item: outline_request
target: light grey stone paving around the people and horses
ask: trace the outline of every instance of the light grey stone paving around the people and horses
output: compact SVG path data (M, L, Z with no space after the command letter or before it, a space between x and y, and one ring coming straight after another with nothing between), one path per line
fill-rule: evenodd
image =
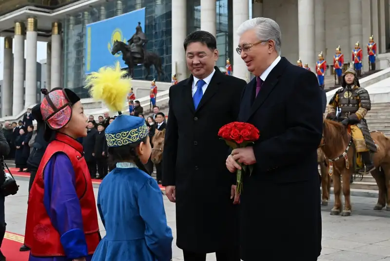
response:
M24 234L27 211L26 178L17 178L20 191L5 201L7 231ZM95 194L98 192L98 185ZM318 261L390 261L390 211L374 211L374 198L351 197L351 217L330 216L330 206L323 207L322 255ZM168 224L176 236L175 205L164 196ZM100 221L99 221L100 222ZM101 222L102 236L105 231ZM180 249L173 245L174 261L183 260ZM288 259L288 255L286 256ZM207 261L215 261L209 254Z

